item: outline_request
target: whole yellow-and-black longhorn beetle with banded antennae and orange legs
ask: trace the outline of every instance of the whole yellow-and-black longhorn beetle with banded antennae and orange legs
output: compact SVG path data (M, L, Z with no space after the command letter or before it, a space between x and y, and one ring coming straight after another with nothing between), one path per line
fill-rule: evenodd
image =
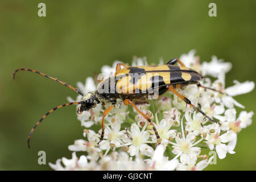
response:
M180 66L174 65L177 62L180 64ZM211 122L217 122L213 121L213 119L208 117L208 115L206 115L201 109L193 105L191 101L188 100L188 98L182 96L175 90L177 88L183 88L184 86L187 86L189 84L197 84L197 86L201 86L205 89L212 89L200 85L199 81L201 81L204 77L193 69L185 67L185 65L179 59L172 59L168 61L166 65L146 65L137 67L131 67L129 65L119 63L115 68L115 76L109 77L102 81L98 85L95 92L89 92L85 95L79 89L73 88L66 82L60 81L57 78L47 76L44 73L40 73L33 69L16 69L16 71L13 73L13 78L15 76L15 73L18 71L31 71L34 73L38 73L39 75L60 82L60 84L68 86L72 90L75 90L77 93L82 95L81 101L69 102L67 104L54 107L52 110L44 114L43 117L39 119L39 121L30 131L27 141L28 147L30 147L30 138L35 128L49 113L56 109L59 109L60 107L75 104L80 105L77 109L77 113L79 114L81 114L83 111L88 111L89 109L96 107L96 105L100 103L103 105L110 104L110 106L104 111L102 117L102 134L100 138L101 141L104 138L104 119L106 115L108 115L109 112L114 108L114 105L117 103L117 99L123 100L123 103L125 105L132 105L139 114L141 114L145 119L147 119L148 122L150 122L155 131L158 143L160 143L161 139L151 119L147 117L146 114L142 113L142 111L138 109L133 101L145 101L148 99L155 100L158 98L158 96L166 93L167 91L175 93L183 101L191 105L194 110L199 111ZM215 91L219 92L218 90Z

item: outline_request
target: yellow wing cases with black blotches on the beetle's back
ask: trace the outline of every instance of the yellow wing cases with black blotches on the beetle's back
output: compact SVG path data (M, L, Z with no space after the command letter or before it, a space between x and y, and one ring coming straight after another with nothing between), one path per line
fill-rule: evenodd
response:
M124 68L117 71L115 77L118 94L135 94L144 90L166 88L168 85L180 88L196 84L203 78L192 69L170 64Z

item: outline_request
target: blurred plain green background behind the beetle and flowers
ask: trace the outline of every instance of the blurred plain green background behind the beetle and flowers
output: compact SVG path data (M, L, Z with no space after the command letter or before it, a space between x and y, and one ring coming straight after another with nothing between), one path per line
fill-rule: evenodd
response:
M46 17L38 4L46 3ZM217 17L208 5L217 4ZM82 138L75 106L52 113L38 127L27 148L32 126L52 107L76 93L54 81L16 68L37 69L76 86L102 65L131 63L146 56L149 63L179 57L196 49L201 61L212 55L230 61L226 86L255 81L256 1L12 1L0 2L0 169L50 169L38 164L71 158L68 145ZM235 97L255 112L255 91ZM238 111L241 111L238 109ZM255 116L253 117L253 119ZM256 125L238 135L236 154L218 159L213 170L256 169Z

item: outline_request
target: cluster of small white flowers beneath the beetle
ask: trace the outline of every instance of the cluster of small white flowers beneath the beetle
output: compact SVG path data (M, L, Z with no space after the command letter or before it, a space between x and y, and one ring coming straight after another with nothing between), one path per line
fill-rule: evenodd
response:
M202 170L212 162L213 156L209 158L201 154L201 148L216 151L220 159L224 159L227 153L234 154L237 134L251 125L254 113L241 111L237 117L234 106L244 106L233 96L251 92L254 82L234 81L233 86L225 88L225 74L230 71L232 64L224 63L216 56L209 63L200 64L199 57L192 50L181 55L180 60L186 67L216 78L213 82L205 78L201 84L224 94L196 85L177 91L209 117L218 119L221 126L210 123L175 94L166 93L155 101L135 103L154 122L162 139L161 144L156 144L154 130L147 120L121 101L105 118L104 140L98 144L102 113L107 108L98 104L90 111L77 115L82 127L85 127L84 138L75 140L68 147L74 151L72 159L58 159L56 164L49 165L55 170ZM114 74L117 63L115 61L113 67L102 67L104 78ZM163 63L160 61L160 64ZM146 58L134 57L132 65L147 65ZM92 77L86 78L85 85L81 82L77 85L84 93L96 90ZM70 97L68 100L74 101ZM76 101L80 100L81 96L77 96ZM77 158L76 151L83 151L84 155Z

